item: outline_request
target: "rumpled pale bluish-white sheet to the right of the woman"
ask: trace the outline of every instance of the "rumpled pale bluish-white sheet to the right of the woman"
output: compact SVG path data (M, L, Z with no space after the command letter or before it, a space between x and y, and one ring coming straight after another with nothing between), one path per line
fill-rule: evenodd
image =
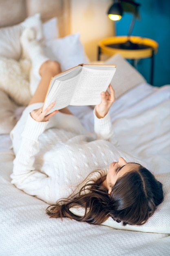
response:
M90 107L69 109L93 130ZM123 150L136 155L153 173L170 172L170 85L138 85L110 109L113 129Z

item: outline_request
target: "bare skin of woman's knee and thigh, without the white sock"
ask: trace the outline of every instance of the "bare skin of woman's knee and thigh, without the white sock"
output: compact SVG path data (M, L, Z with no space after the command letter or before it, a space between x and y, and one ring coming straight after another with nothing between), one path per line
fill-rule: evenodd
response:
M46 92L49 87L49 83L51 81L51 77L55 76L56 74L60 73L60 64L57 61L45 61L41 66L39 70L39 74L41 76L40 83L29 102L29 105L37 102L44 102ZM60 112L65 114L73 115L68 108L63 108L60 110Z

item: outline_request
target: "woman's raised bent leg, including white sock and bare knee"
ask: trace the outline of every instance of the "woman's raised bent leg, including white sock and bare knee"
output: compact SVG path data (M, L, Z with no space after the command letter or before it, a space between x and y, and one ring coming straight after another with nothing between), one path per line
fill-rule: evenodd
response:
M51 77L61 72L57 61L50 61L44 55L43 49L35 39L32 29L25 29L20 37L22 55L30 58L32 62L30 92L33 95L30 104L44 102ZM33 79L36 78L36 79ZM37 87L37 79L40 81ZM37 89L36 89L37 88ZM67 108L60 110L65 114L72 114Z

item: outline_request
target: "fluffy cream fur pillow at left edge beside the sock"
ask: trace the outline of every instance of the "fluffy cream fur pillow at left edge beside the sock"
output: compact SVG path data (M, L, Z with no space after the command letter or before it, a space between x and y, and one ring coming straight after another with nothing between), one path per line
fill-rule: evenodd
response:
M0 89L21 106L27 106L31 99L30 68L31 63L26 59L15 61L0 57Z

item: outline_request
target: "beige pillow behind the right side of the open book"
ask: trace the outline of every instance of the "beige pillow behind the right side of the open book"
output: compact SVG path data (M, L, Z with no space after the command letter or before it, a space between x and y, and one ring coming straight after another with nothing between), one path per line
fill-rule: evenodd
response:
M116 65L116 72L111 81L116 99L135 86L146 83L144 77L120 54L110 57L107 61L104 61L104 64Z

